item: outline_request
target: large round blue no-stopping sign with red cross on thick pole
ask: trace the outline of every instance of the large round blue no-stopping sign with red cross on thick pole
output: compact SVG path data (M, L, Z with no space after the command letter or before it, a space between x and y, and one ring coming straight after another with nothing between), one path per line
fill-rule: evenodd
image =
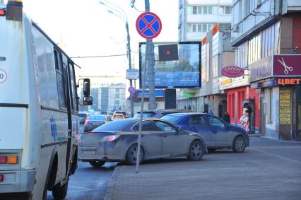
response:
M136 29L141 37L153 39L160 34L162 23L155 13L145 12L138 16Z

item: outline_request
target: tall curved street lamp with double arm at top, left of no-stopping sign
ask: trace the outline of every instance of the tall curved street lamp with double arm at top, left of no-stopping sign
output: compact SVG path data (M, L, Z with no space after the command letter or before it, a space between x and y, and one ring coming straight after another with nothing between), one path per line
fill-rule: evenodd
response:
M104 5L104 6L107 6L107 4L103 3L102 1L99 1L99 3L102 4L102 5ZM110 3L110 4L112 4L112 3ZM116 5L114 5L114 6L116 6ZM119 8L123 13L120 12L120 11L118 11L115 8L112 8L111 6L107 6L107 7L111 8L112 10L116 11L117 13L119 13L120 16L117 15L116 13L114 13L113 11L111 11L110 9L107 10L107 12L112 13L114 16L117 16L117 17L121 18L124 21L124 23L126 24L126 35L127 35L126 36L127 37L126 54L128 56L128 59L129 59L129 69L131 69L131 42L130 42L130 37L129 37L129 23L128 23L128 19L127 19L126 13L119 6L116 6L116 7ZM133 81L131 79L129 80L129 86L133 87ZM129 93L129 99L131 101L131 117L134 117L133 93Z

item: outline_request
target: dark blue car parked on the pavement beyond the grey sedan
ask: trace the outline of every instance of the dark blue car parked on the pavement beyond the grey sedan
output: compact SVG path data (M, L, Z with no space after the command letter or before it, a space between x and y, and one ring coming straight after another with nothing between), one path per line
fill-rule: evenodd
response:
M232 148L233 151L242 153L249 146L249 136L244 129L228 124L211 114L177 113L168 114L162 119L203 136L209 152Z

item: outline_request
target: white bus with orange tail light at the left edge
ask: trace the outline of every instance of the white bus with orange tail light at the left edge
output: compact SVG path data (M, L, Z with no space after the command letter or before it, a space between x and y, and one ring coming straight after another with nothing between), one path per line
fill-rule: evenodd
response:
M0 199L64 199L77 166L76 86L73 61L22 2L0 3ZM91 105L90 80L84 93Z

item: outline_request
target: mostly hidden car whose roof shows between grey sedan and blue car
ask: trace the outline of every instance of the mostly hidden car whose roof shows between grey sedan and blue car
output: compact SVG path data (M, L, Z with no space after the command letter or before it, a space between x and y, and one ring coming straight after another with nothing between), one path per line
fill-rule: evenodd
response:
M143 117L163 117L166 114L179 113L179 112L191 112L187 109L164 109L164 110L143 110ZM134 118L140 118L140 111L135 114Z

